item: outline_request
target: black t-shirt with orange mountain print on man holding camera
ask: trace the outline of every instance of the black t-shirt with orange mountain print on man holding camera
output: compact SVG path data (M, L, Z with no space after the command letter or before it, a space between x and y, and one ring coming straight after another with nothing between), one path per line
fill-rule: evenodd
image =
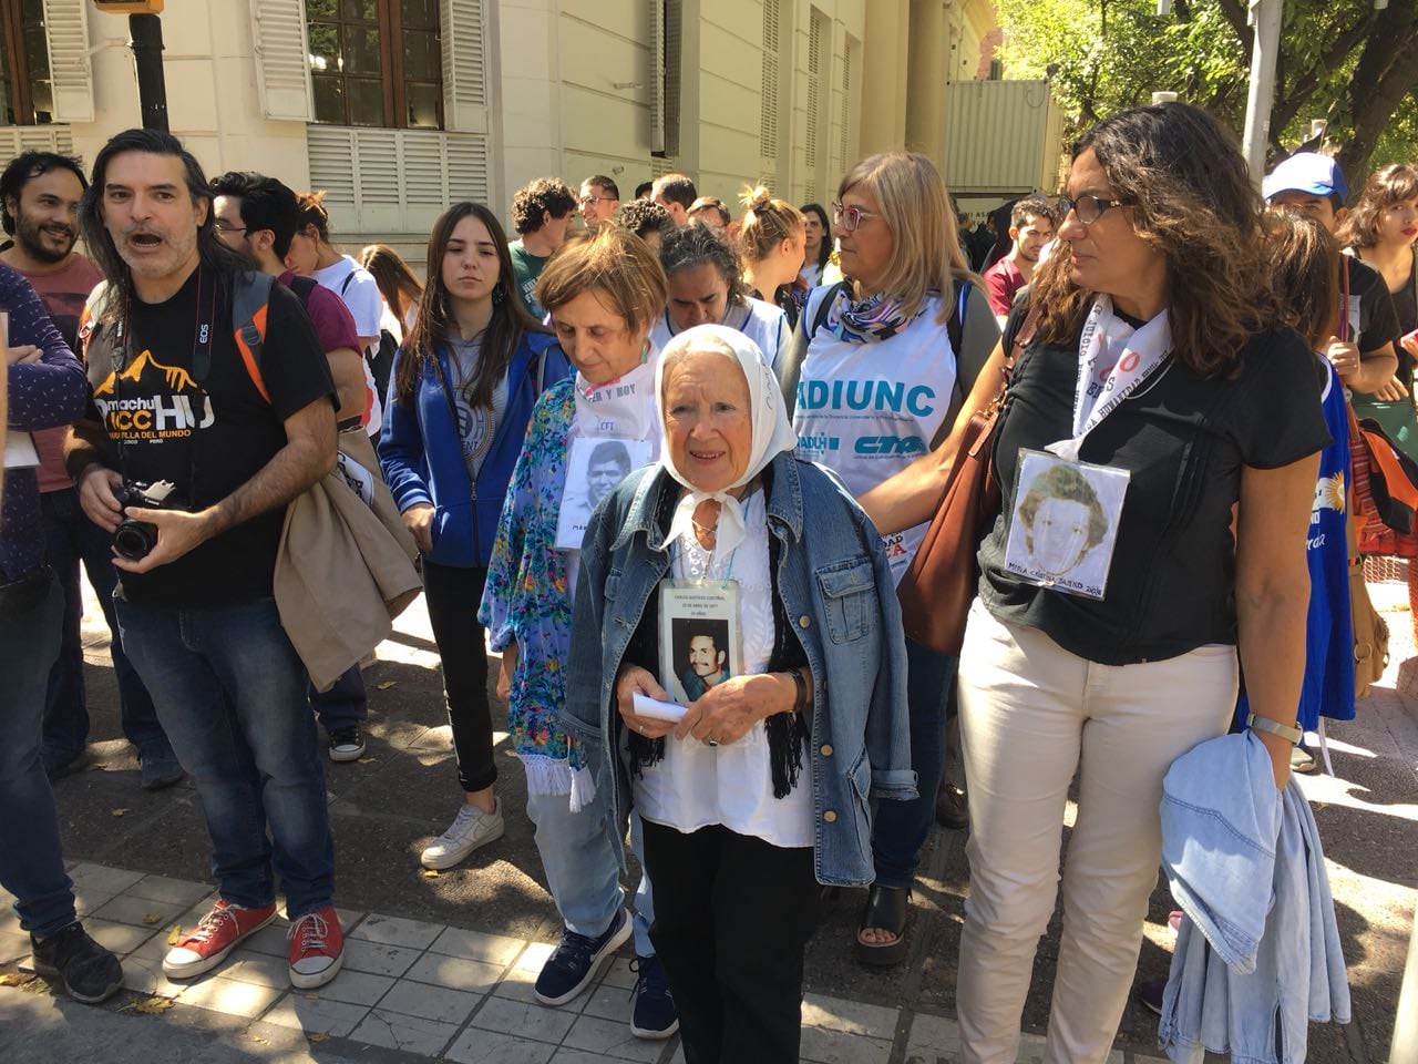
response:
M95 414L116 444L119 471L129 481L172 481L180 509L224 499L285 447L286 417L316 400L335 399L315 326L291 291L271 288L261 355L268 403L237 350L230 294L210 279L200 282L200 274L194 271L166 302L133 301L133 355L122 372L89 367ZM204 325L211 358L199 384L193 356ZM123 597L184 607L268 597L284 519L285 508L277 508L176 562L142 575L121 573Z

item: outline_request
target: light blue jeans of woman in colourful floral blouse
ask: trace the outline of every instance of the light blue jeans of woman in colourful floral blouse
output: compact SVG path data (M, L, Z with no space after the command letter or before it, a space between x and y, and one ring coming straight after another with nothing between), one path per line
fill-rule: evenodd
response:
M570 794L527 794L527 816L536 826L536 850L542 855L552 901L562 914L567 931L586 938L605 933L615 918L615 909L625 902L620 885L620 861L605 830L605 790L596 792L596 800L580 813L571 811ZM630 846L645 867L645 844L640 813L630 814ZM637 956L654 956L649 925L655 921L655 897L649 890L649 875L641 871L635 890Z

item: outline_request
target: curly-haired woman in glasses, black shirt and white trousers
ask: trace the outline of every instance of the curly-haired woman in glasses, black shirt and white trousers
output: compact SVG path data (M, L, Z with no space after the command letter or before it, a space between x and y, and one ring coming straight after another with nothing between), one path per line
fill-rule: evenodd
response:
M1269 292L1245 162L1197 108L1134 108L1073 146L1066 189L1061 245L932 455L949 464L1020 336L994 436L1004 505L960 653L971 834L957 1007L970 1064L1018 1051L1075 777L1044 1060L1088 1064L1112 1053L1137 966L1163 776L1225 733L1238 660L1276 787L1299 738L1306 529L1330 437L1313 355ZM1048 528L1025 511L1032 499L1042 512L1061 468L1093 488L1102 535L1076 550L1052 542L1068 563L1042 573L1025 549L1066 538L1072 504L1048 499L1062 516Z

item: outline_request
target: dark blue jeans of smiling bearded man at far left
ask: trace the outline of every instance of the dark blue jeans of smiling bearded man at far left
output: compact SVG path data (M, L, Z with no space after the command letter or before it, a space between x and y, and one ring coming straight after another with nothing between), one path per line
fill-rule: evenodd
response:
M156 760L172 756L167 736L157 722L152 695L123 653L123 638L118 633L112 602L113 589L118 586L118 570L113 569L109 549L112 538L84 516L74 488L40 495L40 512L44 519L44 545L50 553L50 565L54 566L64 592L60 655L50 670L48 692L44 699L45 759L74 760L88 742L84 643L79 636L79 621L84 617L79 563L88 573L94 593L104 607L104 619L108 621L109 655L113 658L113 674L118 678L118 714L123 735L143 758Z

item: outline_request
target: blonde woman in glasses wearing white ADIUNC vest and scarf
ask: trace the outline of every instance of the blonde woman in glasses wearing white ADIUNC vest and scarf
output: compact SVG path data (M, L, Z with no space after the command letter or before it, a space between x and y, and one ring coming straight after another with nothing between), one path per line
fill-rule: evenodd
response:
M810 339L801 379L795 389L790 382L788 392L797 400L798 454L862 495L929 451L946 426L957 390L949 322L961 294L957 285L968 284L971 274L946 184L922 155L864 159L842 179L832 210L848 279L808 298L800 329ZM980 314L990 319L988 306ZM926 532L925 523L902 528L885 538L896 582ZM910 640L906 658L919 797L878 810L876 881L855 946L862 963L879 966L906 955L910 887L934 819L954 675L954 660Z

